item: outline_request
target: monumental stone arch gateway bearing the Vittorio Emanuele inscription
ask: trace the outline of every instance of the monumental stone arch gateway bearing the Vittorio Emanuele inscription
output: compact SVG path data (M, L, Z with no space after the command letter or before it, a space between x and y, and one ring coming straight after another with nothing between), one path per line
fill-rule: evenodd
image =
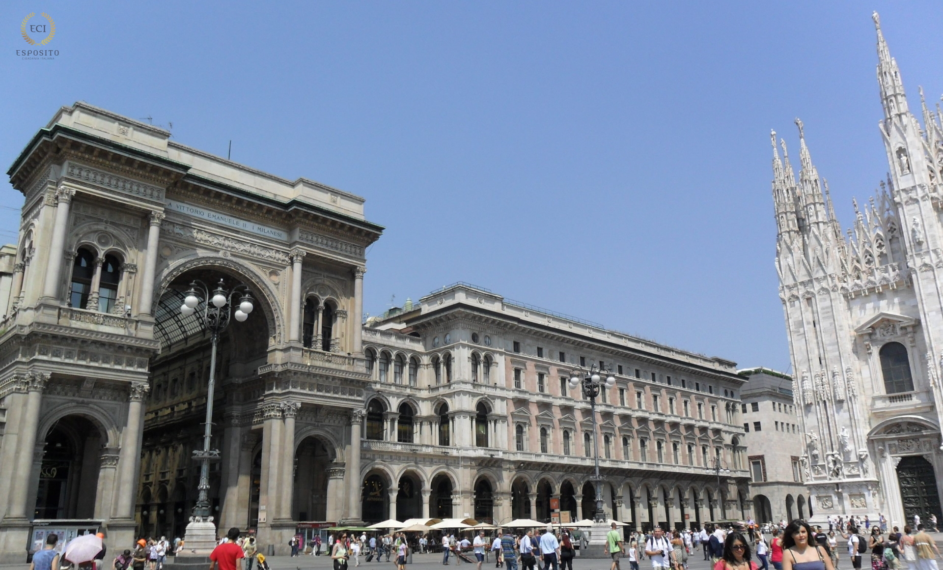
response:
M209 369L180 311L193 279L256 304L220 340L218 525L286 544L296 463L327 479L309 520L360 519L364 251L383 228L356 195L170 134L76 103L9 168L25 205L0 324L0 562L43 528L96 524L112 548L183 534Z

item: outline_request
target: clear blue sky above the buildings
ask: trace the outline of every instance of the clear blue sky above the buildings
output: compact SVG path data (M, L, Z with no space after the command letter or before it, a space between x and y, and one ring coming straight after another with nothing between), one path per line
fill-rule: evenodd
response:
M75 100L153 117L367 198L372 314L464 280L786 370L769 129L802 118L849 226L886 170L872 9L937 101L938 1L5 2L0 162ZM15 56L31 11L53 61Z

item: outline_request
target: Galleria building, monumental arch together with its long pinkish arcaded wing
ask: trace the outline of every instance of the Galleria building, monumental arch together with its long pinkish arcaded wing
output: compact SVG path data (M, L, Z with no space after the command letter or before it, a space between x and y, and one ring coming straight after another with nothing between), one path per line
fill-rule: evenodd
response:
M566 380L601 363L607 514L750 516L734 362L464 283L364 324L383 228L362 198L169 135L76 103L9 168L25 205L0 280L0 562L38 528L183 534L209 377L207 330L180 310L194 279L245 285L256 307L219 343L222 528L280 551L303 524L591 516L594 423Z

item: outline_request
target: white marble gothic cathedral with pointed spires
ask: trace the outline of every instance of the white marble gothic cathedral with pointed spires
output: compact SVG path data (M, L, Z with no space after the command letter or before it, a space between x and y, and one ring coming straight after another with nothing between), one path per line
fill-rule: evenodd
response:
M889 174L855 202L846 239L802 122L798 180L773 132L776 270L813 518L883 513L902 527L943 517L943 126L922 92L922 128L908 109L873 17Z

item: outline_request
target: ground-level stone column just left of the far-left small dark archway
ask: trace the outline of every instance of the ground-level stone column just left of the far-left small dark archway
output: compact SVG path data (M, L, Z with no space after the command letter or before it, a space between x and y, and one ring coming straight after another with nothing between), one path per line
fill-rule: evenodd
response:
M19 441L17 442L16 458L13 478L9 490L9 506L5 519L27 520L31 515L32 507L27 508L30 492L30 476L33 473L33 454L36 447L37 429L40 425L40 406L42 392L49 383L49 374L45 372L30 372L21 380L25 383L26 406L20 424Z

